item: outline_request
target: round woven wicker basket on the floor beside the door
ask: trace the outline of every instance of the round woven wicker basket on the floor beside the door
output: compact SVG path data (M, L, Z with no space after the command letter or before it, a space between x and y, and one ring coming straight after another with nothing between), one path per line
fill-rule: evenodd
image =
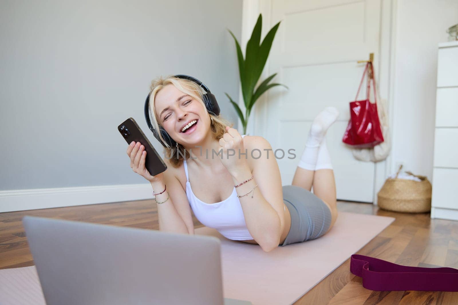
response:
M377 194L377 205L388 211L424 213L431 211L431 183L425 176L409 175L419 178L421 181L398 179L402 169L399 167L396 178L388 178L382 189Z

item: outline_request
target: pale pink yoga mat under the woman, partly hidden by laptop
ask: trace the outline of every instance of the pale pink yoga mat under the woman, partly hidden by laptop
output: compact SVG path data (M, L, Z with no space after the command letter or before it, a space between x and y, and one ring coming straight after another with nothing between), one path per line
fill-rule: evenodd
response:
M316 240L278 247L271 252L225 239L211 228L196 234L221 240L224 297L253 305L292 304L360 250L393 217L339 212L333 229ZM44 305L35 267L0 270L1 305Z

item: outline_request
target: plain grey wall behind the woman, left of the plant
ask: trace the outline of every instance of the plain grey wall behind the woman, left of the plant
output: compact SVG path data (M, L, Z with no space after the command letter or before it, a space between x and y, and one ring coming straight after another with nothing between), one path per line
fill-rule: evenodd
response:
M189 74L238 97L242 1L0 0L0 190L144 183L117 131L151 80Z

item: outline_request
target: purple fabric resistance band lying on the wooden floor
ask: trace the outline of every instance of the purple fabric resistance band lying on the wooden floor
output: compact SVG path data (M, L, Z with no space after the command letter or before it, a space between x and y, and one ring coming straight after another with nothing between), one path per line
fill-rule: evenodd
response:
M350 272L363 279L365 289L376 291L458 291L458 269L450 267L409 267L353 254Z

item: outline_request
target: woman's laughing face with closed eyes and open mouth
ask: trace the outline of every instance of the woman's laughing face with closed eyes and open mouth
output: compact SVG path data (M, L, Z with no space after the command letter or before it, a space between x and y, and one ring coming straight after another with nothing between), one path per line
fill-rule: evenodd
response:
M181 92L173 84L156 94L154 112L158 124L175 142L185 147L201 142L210 134L210 116L203 103Z

